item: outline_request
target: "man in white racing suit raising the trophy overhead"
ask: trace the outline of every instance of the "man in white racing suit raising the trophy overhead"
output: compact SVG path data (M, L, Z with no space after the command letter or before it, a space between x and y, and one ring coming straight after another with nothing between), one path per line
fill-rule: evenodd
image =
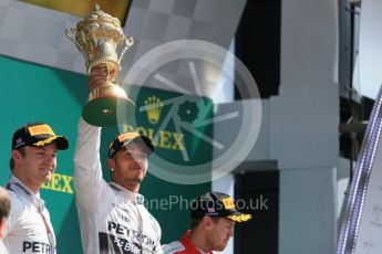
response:
M92 68L90 85L92 75L102 75L97 72L102 70ZM161 226L138 193L154 151L151 139L136 133L115 137L107 155L110 183L102 176L100 144L101 128L81 118L74 188L84 253L162 253Z

